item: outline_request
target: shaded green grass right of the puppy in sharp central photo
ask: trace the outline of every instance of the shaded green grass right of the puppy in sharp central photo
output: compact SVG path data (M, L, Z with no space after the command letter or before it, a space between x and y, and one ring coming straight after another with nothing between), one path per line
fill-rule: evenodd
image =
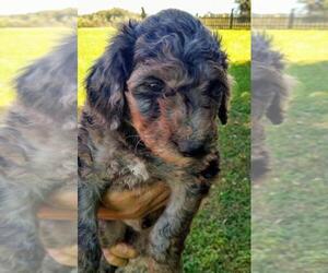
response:
M221 179L192 224L188 273L250 272L250 63L233 64L229 124L220 128Z

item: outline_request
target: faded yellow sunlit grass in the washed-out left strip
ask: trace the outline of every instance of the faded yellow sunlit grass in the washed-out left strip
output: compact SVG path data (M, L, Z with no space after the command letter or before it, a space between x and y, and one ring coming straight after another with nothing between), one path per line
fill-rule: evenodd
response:
M67 28L0 28L0 107L15 97L13 80L21 69L44 56Z

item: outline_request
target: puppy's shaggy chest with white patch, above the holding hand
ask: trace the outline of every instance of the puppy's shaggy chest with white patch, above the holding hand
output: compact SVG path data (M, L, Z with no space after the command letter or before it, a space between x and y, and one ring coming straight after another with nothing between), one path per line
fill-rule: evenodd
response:
M137 155L116 132L106 131L99 134L98 131L89 130L89 136L85 140L87 139L89 141L84 141L86 143L84 146L87 149L84 150L90 151L91 155L87 157L92 159L87 161L85 156L83 157L85 154L82 153L83 149L79 156L83 157L83 162L89 162L91 179L96 178L98 182L105 182L113 190L131 189L159 180L169 181L169 183L177 180L178 175L174 166L152 155Z

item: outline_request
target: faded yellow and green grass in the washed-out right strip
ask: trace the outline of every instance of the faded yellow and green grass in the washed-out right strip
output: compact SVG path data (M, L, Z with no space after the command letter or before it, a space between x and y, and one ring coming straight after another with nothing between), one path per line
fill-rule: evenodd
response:
M272 31L289 60L293 88L286 119L267 127L272 171L253 189L253 271L324 273L328 269L328 33Z

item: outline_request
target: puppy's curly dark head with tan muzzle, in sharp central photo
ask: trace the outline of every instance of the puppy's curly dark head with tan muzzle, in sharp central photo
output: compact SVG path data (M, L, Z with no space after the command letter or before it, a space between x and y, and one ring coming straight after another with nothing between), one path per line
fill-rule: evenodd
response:
M155 155L186 164L212 153L226 122L220 41L191 15L166 10L125 25L87 79L89 100L113 130L124 119Z

